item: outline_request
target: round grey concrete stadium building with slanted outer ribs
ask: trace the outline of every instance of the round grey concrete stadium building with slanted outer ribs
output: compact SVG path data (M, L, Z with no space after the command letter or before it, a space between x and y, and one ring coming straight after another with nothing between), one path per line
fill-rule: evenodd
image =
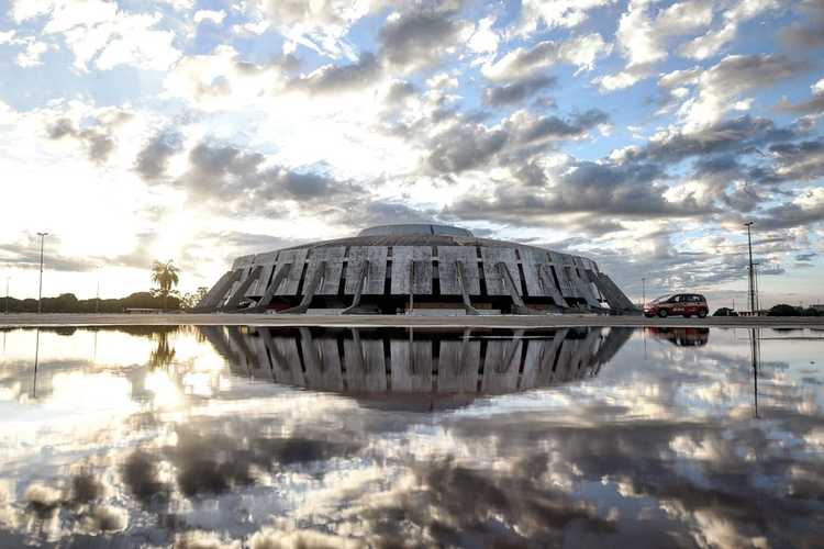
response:
M196 311L620 314L637 307L586 257L454 226L403 224L238 257Z

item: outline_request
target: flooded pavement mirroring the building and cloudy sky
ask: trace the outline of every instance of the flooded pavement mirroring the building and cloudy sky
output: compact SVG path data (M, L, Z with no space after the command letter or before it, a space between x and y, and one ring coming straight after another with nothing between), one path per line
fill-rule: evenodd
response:
M0 337L0 547L824 539L822 330Z

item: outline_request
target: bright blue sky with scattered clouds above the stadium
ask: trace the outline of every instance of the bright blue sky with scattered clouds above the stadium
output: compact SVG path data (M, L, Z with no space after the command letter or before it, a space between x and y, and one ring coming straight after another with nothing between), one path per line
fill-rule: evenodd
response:
M753 221L762 304L824 303L823 52L821 0L0 1L0 272L431 221L745 309Z

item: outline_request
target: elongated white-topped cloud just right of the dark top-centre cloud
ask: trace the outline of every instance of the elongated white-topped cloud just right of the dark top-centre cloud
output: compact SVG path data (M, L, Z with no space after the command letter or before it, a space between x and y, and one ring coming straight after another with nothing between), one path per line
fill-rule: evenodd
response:
M558 64L575 65L579 70L591 70L598 58L610 53L610 45L600 34L577 36L565 42L543 41L525 49L517 47L494 63L483 65L483 76L490 80L534 78L535 71Z

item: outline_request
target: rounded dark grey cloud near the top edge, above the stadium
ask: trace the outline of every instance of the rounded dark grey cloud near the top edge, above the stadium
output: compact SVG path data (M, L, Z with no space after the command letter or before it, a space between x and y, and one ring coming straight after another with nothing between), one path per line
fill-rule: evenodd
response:
M389 65L416 69L437 63L466 29L450 12L392 13L380 30L380 56Z

